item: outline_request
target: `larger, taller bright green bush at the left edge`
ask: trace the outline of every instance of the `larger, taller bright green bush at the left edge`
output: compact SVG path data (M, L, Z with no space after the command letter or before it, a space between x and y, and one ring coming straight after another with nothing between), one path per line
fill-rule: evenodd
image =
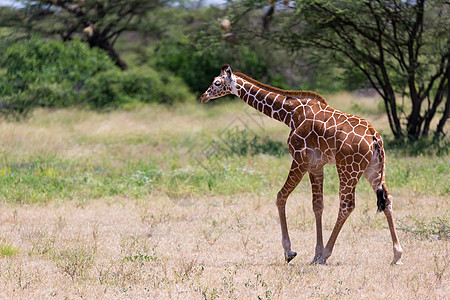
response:
M66 107L96 73L115 68L99 49L85 43L31 39L8 48L6 74L0 82L2 112L20 116L34 107Z

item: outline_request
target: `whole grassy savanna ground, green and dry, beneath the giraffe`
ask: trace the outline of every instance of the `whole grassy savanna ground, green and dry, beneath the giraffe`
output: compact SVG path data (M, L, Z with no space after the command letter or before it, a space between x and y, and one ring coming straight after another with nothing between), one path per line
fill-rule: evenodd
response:
M2 121L0 298L450 297L448 154L387 150L404 265L390 265L365 179L328 266L310 265L307 177L287 204L298 255L286 265L275 197L290 166L288 128L238 99L218 101ZM388 134L376 99L329 103ZM325 176L326 240L339 183L334 166Z

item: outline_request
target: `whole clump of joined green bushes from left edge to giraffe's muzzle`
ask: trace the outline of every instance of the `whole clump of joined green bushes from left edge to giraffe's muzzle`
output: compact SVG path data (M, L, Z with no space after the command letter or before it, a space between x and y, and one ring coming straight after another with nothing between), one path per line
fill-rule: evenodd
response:
M186 84L167 71L121 71L100 49L81 41L31 39L7 50L0 73L0 112L15 118L35 107L126 107L136 102L192 100Z

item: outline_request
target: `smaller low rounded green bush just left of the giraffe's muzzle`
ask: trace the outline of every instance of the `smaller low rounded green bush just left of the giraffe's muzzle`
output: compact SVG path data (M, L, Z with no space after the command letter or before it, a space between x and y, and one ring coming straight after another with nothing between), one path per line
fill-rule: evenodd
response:
M194 97L180 78L141 67L98 73L86 82L84 100L101 109L126 107L134 102L174 104L193 101Z

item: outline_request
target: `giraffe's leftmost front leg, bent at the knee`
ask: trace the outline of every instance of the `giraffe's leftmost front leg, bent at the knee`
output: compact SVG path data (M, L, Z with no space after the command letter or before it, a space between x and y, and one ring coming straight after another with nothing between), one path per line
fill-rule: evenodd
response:
M281 244L283 245L284 258L287 263L294 259L297 253L291 249L291 240L289 238L286 222L286 201L292 191L297 187L298 183L302 180L304 174L305 172L300 171L298 164L294 160L288 178L277 195L278 215L280 217L281 225Z

